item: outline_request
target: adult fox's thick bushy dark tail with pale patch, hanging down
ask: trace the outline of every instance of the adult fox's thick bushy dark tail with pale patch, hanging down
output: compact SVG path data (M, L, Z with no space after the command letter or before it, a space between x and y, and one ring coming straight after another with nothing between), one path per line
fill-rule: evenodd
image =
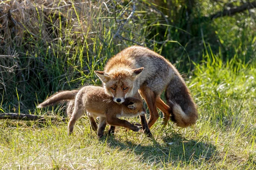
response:
M177 126L188 127L197 121L197 106L179 73L175 73L174 78L167 85L165 96L167 105L171 109L171 120Z

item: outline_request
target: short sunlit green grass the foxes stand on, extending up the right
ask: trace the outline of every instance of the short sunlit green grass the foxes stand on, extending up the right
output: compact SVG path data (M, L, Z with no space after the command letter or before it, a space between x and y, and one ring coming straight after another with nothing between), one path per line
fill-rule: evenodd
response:
M187 85L198 104L193 127L171 122L153 126L154 139L117 128L114 137L97 139L87 118L72 136L66 123L1 121L3 169L254 169L256 168L255 64L235 60L197 64ZM61 111L60 111L61 112ZM57 113L58 114L58 113ZM129 119L139 122L139 119Z

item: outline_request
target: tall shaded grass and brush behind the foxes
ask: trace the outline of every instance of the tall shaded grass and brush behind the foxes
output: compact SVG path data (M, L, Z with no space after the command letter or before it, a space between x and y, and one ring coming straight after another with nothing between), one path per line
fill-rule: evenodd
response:
M254 7L253 0L1 0L0 110L33 112L52 92L100 85L93 71L131 45L163 55L185 79L217 61L239 73L256 60Z

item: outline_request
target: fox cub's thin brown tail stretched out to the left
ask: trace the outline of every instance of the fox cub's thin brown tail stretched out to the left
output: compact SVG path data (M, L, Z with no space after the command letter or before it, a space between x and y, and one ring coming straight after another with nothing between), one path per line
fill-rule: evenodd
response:
M58 102L73 100L73 99L76 98L77 93L78 93L78 90L58 92L58 93L50 96L44 102L40 103L37 106L37 108L44 108L44 107L47 107L49 105L53 105L53 104L58 103Z

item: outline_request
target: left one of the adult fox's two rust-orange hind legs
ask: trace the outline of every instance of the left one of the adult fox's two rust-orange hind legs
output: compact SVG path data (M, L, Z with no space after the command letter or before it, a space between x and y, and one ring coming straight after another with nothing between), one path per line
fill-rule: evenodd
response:
M156 94L154 94L153 91L151 91L148 87L140 88L140 94L145 99L148 109L149 109L149 120L148 120L148 127L150 128L159 118L159 114L157 112L157 102L156 102Z

